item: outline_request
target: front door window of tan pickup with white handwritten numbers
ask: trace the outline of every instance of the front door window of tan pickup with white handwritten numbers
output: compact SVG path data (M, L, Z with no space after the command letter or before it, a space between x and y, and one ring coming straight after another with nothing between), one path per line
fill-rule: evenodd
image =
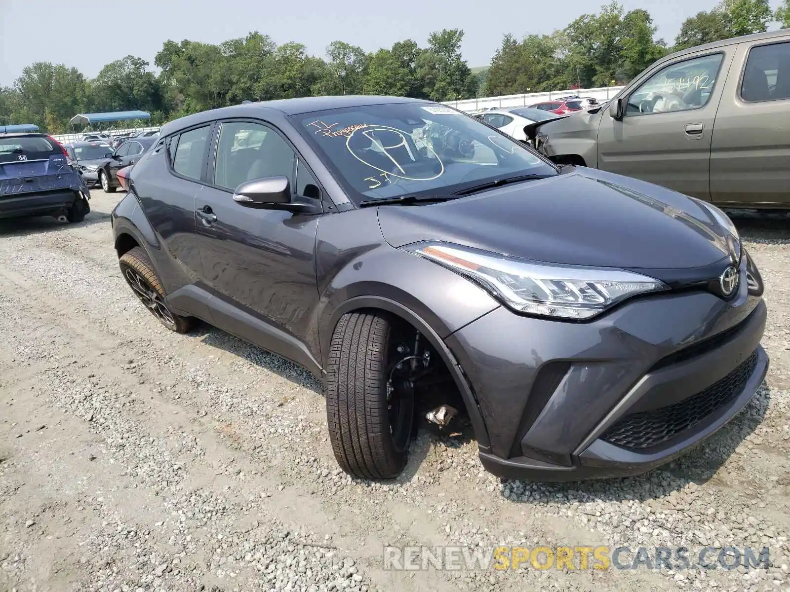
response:
M705 107L721 66L722 54L675 62L631 93L626 115L689 111Z

